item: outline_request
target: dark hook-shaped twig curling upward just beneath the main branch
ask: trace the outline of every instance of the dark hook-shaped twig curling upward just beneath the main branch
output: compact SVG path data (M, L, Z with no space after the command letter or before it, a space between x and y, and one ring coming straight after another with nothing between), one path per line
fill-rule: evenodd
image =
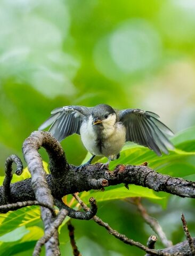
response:
M59 209L66 209L67 215L70 218L78 219L78 220L90 220L97 212L97 205L94 197L91 197L90 200L91 209L87 212L80 212L74 209L71 209L68 205L64 204L62 201L55 199L54 203Z

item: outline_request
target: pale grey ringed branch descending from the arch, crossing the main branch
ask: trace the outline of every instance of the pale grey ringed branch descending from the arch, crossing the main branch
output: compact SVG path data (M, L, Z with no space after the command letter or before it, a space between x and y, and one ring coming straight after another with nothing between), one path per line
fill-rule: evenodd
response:
M44 133L34 132L23 143L22 151L25 161L28 164L28 170L31 174L31 186L38 202L47 204L54 210L53 197L51 190L46 182L46 173L43 168L42 158L38 154L41 146L50 146L47 136ZM54 221L52 213L45 207L41 207L41 217L45 226L45 234L50 229L51 223ZM45 243L47 256L60 255L58 230L54 229L53 239L48 238ZM34 254L38 255L38 254Z

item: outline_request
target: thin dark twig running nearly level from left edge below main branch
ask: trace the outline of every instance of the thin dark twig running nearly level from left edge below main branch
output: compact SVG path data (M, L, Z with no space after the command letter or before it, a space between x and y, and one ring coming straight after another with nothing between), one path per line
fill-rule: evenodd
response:
M31 205L39 205L39 206L45 207L45 208L49 209L52 212L53 217L56 216L55 210L52 207L50 207L50 205L48 205L47 203L38 202L38 201L25 201L25 202L13 203L13 204L0 205L0 212L3 213L2 210L6 210L6 212L7 212L7 210L8 211L15 211L15 210L18 210L22 207L31 206Z

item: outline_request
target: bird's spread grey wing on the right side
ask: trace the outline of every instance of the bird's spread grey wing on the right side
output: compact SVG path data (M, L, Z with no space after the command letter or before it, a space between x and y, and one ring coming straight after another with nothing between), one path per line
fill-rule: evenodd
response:
M126 127L126 141L148 147L161 156L161 151L168 154L167 148L174 148L167 138L167 135L173 135L173 132L158 118L157 114L141 109L119 111L119 121Z

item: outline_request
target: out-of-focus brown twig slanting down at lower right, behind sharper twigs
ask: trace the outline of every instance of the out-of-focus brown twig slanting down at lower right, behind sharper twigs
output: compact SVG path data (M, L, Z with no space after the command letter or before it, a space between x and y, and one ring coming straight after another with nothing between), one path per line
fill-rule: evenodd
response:
M147 210L141 203L140 197L127 198L127 201L137 206L137 209L139 210L144 221L148 223L148 225L152 228L153 231L155 231L155 233L158 235L158 237L160 238L160 241L163 243L165 247L170 247L173 245L172 241L169 241L167 239L158 221L148 214Z

